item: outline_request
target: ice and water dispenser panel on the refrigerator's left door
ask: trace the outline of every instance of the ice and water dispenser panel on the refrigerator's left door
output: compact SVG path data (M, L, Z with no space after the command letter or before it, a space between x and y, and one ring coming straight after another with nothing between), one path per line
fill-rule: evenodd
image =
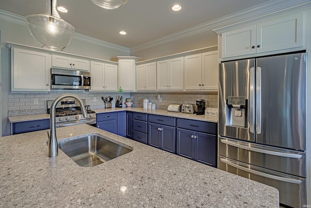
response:
M226 98L225 125L247 128L247 99L228 96Z

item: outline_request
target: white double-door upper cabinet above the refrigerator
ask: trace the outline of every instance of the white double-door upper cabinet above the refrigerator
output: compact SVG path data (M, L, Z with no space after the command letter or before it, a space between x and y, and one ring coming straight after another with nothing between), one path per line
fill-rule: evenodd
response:
M303 12L222 33L222 58L287 49L304 43Z

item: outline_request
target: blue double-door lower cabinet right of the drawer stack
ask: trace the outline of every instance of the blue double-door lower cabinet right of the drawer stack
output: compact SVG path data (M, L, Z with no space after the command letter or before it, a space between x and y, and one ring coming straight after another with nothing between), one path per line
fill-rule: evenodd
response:
M175 153L175 127L148 123L148 144Z

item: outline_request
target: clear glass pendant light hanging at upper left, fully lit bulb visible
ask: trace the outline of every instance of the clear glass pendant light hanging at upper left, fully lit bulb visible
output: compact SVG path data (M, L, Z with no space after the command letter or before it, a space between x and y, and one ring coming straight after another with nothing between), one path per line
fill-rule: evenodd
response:
M62 51L73 37L74 27L57 11L57 0L46 0L43 14L28 15L26 22L31 35L41 48Z

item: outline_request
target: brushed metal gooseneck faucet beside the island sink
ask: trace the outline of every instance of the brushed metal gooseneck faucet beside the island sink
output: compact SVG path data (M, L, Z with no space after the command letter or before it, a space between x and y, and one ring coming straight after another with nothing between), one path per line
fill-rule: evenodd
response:
M54 99L54 101L52 102L51 108L50 108L50 138L48 141L49 157L55 157L58 155L58 144L57 144L56 131L55 131L56 129L56 122L55 122L56 105L60 100L66 97L72 97L76 99L80 103L80 108L81 108L83 117L87 118L87 113L84 107L84 103L78 95L69 93L69 94L59 95L58 97Z

